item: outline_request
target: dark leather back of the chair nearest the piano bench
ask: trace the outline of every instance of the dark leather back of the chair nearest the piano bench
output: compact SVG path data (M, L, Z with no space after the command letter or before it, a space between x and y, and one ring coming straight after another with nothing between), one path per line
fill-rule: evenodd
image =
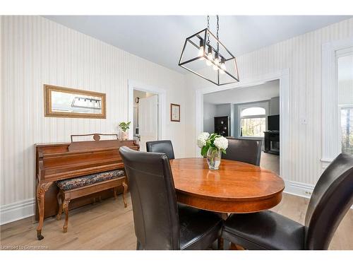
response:
M169 159L164 153L119 149L133 206L138 249L179 249L179 216Z

